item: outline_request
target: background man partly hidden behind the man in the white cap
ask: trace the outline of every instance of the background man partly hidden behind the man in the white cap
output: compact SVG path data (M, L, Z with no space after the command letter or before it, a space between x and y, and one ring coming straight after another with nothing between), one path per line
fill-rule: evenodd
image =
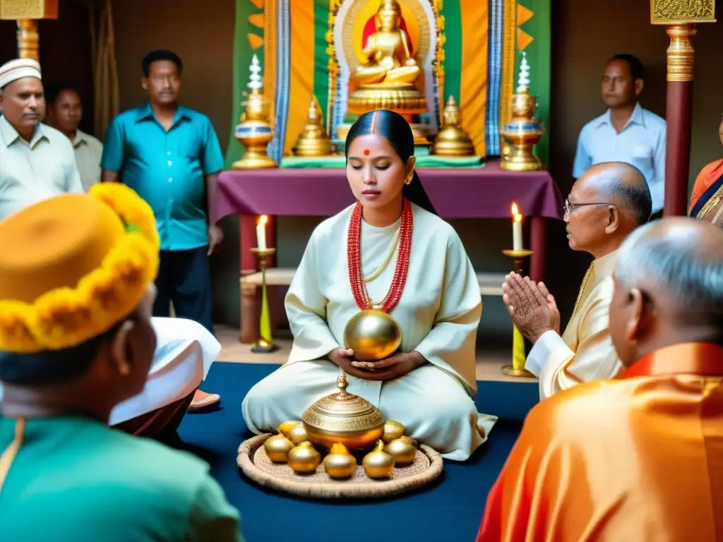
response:
M64 84L46 87L46 103L46 124L58 129L70 139L75 152L75 163L80 171L80 182L87 192L91 186L100 182L103 143L78 128L83 118L83 108L80 94L73 87Z

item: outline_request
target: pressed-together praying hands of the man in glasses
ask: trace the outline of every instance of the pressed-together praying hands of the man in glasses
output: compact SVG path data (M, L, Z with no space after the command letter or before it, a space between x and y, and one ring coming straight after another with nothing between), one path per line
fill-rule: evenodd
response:
M543 283L510 273L502 284L502 301L518 330L532 343L545 332L560 333L560 311Z

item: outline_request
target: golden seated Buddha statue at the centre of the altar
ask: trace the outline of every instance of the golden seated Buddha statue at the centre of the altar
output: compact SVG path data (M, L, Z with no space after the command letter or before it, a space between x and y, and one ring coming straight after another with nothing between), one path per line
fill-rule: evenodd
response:
M360 86L410 85L422 74L409 53L407 35L400 27L401 15L396 0L382 0L375 15L377 31L364 46L367 62L359 65L354 73L354 80Z

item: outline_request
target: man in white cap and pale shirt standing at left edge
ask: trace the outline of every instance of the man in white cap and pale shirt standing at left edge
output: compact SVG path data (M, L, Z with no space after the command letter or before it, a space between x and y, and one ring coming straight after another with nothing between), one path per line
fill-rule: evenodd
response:
M34 60L0 66L0 220L42 199L83 192L68 138L40 123L46 109L40 79Z

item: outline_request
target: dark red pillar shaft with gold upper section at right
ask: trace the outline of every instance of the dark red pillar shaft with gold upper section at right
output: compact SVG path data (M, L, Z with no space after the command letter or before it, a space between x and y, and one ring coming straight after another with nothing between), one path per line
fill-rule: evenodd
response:
M665 120L665 205L664 216L688 215L688 173L690 170L690 117L693 108L693 67L695 51L690 38L695 25L669 25L667 50L667 98Z

